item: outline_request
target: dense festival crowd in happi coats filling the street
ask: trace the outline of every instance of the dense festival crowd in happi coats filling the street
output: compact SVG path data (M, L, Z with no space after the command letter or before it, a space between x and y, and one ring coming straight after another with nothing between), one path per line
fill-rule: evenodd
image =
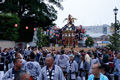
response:
M2 80L113 80L110 74L120 80L120 53L107 47L79 52L5 48L0 63L5 65Z

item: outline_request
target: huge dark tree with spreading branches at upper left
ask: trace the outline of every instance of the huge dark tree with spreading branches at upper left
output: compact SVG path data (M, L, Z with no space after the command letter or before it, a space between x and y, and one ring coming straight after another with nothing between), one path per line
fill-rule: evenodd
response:
M29 42L33 38L33 28L53 25L57 19L55 6L63 9L63 0L5 0L0 4L0 11L3 13L18 14L20 18L20 38L18 41ZM25 30L28 26L29 30ZM21 34L22 33L22 34Z

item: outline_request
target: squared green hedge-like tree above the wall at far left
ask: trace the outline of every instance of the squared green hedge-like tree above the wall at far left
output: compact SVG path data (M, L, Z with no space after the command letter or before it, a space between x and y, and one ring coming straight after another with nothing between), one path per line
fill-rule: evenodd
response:
M19 37L20 19L15 14L0 14L0 39L16 41ZM18 26L15 27L15 24Z

